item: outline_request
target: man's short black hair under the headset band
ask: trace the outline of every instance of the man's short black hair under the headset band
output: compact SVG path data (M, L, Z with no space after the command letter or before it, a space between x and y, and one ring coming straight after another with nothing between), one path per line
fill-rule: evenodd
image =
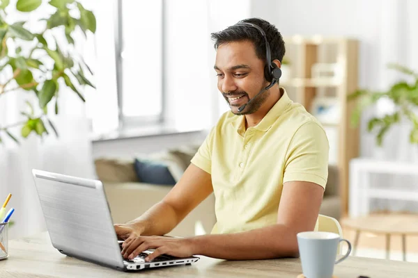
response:
M241 20L240 22L249 22L260 26L265 35L267 36L268 43L270 44L270 51L272 60L279 60L280 63L283 60L283 56L286 52L284 47L284 40L281 36L281 33L277 30L276 26L270 24L270 22L265 21L260 18L247 18ZM238 24L240 23L238 22ZM256 28L251 26L229 26L228 28L211 33L211 38L214 40L214 47L217 49L221 44L228 42L239 42L244 40L249 40L254 44L256 49L256 55L261 60L266 60L265 57L265 40L261 32Z

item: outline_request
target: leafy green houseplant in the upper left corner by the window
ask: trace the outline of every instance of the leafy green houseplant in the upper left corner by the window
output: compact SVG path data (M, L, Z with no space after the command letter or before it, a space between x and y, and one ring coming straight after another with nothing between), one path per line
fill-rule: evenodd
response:
M19 143L20 137L26 138L31 133L45 136L50 131L58 136L48 117L47 104L54 101L55 114L59 113L59 81L82 101L85 101L84 85L94 88L86 77L93 72L75 51L74 35L82 32L86 38L87 32L95 33L95 16L75 0L45 3L53 13L39 19L37 25L42 29L36 32L31 31L29 20L14 22L13 17L8 16L11 9L38 15L42 13L37 10L41 4L42 0L17 0L13 6L10 0L0 0L0 76L5 77L0 80L0 101L3 95L23 90L37 99L35 104L26 101L27 107L21 111L24 120L7 126L0 123L0 142L8 136ZM60 46L59 42L65 40ZM12 131L16 128L20 129L20 134Z

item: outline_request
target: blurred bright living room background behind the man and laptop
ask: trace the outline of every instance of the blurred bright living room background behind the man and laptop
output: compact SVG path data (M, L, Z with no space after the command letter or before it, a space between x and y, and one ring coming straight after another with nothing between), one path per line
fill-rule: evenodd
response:
M286 42L280 85L330 140L320 213L341 222L359 256L418 261L418 227L406 227L418 220L417 1L0 2L10 238L46 230L33 168L103 181L114 222L167 194L229 110L210 33L261 17ZM210 231L205 202L178 234Z

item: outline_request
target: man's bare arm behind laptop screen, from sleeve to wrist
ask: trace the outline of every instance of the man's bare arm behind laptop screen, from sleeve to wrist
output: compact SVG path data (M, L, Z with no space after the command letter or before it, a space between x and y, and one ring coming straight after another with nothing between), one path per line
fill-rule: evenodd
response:
M134 227L141 236L168 234L212 191L210 174L190 164L180 181L161 202L126 224Z

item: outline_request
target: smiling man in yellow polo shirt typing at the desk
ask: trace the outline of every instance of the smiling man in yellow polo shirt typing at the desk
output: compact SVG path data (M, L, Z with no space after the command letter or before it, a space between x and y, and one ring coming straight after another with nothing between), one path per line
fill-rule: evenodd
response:
M262 28L269 62L279 68L285 49L277 28L262 19L242 22ZM147 261L160 254L231 260L298 256L296 234L316 229L327 181L325 131L268 77L263 35L242 22L212 33L217 85L231 112L222 115L161 202L136 220L115 225L125 239L125 258L148 248L155 252ZM212 192L217 224L211 234L162 237Z

